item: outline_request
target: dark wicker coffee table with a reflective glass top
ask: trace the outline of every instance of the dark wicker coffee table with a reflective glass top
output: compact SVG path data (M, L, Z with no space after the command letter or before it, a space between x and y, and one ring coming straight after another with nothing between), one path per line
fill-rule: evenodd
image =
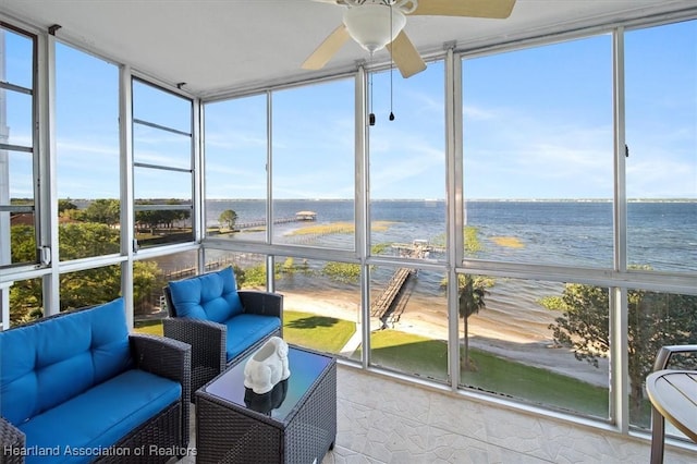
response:
M196 392L196 461L321 463L337 438L335 359L290 346L291 377L256 394L247 358Z

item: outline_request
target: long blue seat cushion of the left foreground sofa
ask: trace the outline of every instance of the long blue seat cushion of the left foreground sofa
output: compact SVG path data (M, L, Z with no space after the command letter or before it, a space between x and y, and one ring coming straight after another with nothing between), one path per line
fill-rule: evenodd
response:
M27 456L26 463L81 463L119 442L167 406L179 401L181 384L131 369L21 424L26 447L58 449L61 455ZM58 447L58 448L57 448ZM91 455L68 455L65 451Z

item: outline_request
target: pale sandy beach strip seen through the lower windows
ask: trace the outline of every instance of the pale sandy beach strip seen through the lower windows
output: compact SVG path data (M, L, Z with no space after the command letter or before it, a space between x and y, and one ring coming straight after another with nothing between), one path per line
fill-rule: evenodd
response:
M284 295L285 309L360 322L359 302L357 296L351 293L332 291L313 292L310 295L283 290L280 290L280 293ZM608 387L608 359L600 359L599 368L596 368L586 362L577 361L568 349L554 346L551 331L547 328L553 321L554 317L549 312L510 315L487 307L469 318L469 345L511 361L575 377L595 386ZM458 323L462 333L462 319ZM380 327L380 321L371 318L371 330ZM431 339L448 338L448 320L443 314L420 310L412 305L392 328Z

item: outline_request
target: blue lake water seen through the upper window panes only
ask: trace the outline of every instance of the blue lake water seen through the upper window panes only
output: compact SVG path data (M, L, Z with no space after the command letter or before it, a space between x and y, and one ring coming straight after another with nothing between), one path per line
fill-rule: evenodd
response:
M207 224L218 225L225 209L237 213L240 223L261 220L264 200L210 200ZM317 224L353 222L350 200L276 200L274 218L292 218L297 211L317 213ZM466 224L477 228L480 249L476 259L542 265L613 267L613 208L610 202L467 202ZM377 200L370 204L375 223L387 223L371 233L374 245L428 240L443 244L443 200ZM303 237L289 232L306 224L291 222L274 228L279 243L295 243L353 249L352 234ZM237 239L264 240L236 234ZM438 257L438 256L433 256ZM629 266L649 266L659 271L697 271L697 202L645 202L627 205L627 257Z

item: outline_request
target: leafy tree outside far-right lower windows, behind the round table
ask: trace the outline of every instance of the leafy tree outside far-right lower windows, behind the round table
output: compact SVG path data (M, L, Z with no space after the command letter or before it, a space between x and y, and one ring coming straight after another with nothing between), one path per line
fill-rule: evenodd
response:
M551 323L554 341L573 350L576 359L598 367L610 350L609 290L567 283L561 298L548 298L546 306L563 312ZM659 349L697 343L697 295L627 292L627 350L631 398L635 412L644 399L644 381L653 367Z

